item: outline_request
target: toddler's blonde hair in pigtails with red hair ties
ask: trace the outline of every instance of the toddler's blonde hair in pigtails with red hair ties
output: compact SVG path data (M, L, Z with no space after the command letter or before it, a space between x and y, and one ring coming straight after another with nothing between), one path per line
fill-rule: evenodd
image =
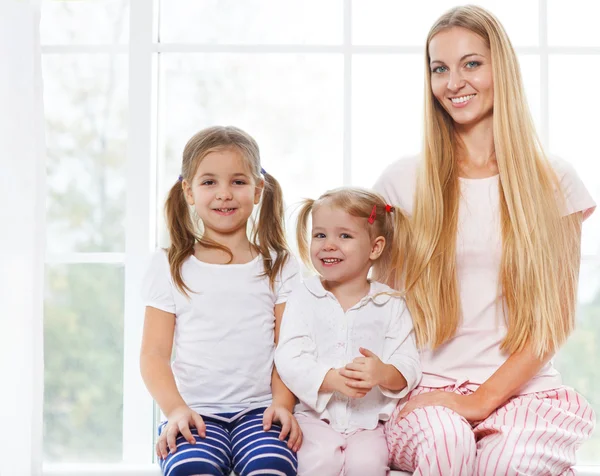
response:
M342 187L329 190L317 200L306 199L298 213L296 225L296 239L298 252L302 262L312 268L310 261L310 242L308 220L312 212L323 204L339 208L351 216L368 220L375 207L373 223L365 221L369 236L374 239L378 236L385 238L383 252L377 258L377 277L383 282L392 281L392 276L397 275L397 269L403 269L403 259L410 243L410 227L408 218L402 210L386 204L381 195L371 190L357 187Z

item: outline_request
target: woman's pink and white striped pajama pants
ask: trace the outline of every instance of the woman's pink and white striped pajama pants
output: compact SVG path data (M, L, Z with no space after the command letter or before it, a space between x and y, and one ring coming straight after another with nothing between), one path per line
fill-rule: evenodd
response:
M433 390L473 393L417 387L402 399L385 424L394 469L440 476L574 474L575 451L594 428L592 407L567 387L517 395L476 424L441 406L396 421L410 398Z

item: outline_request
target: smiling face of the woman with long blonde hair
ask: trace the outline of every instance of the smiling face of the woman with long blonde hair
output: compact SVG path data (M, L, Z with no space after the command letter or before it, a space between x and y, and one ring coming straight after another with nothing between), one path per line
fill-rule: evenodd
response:
M429 58L431 91L454 122L491 121L494 81L483 39L461 27L443 30L429 42Z

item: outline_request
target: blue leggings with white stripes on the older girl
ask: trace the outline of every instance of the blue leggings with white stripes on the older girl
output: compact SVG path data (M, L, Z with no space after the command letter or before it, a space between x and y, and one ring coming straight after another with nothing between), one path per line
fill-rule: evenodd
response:
M177 452L160 460L164 476L223 476L231 471L240 476L295 476L298 472L296 453L278 439L279 425L263 430L265 410L257 408L231 423L203 416L206 438L200 438L196 428L191 428L196 438L196 444L192 445L179 434ZM233 415L217 416L231 418ZM165 421L159 426L159 435L166 424Z

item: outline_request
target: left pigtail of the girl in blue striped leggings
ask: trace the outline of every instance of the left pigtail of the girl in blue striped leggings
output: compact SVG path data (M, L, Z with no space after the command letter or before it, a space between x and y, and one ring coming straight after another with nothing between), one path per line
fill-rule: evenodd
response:
M194 254L197 236L180 181L177 181L169 191L165 202L165 216L171 238L171 246L168 250L171 276L177 289L188 296L188 291L192 292L192 290L183 282L181 265L188 256Z

